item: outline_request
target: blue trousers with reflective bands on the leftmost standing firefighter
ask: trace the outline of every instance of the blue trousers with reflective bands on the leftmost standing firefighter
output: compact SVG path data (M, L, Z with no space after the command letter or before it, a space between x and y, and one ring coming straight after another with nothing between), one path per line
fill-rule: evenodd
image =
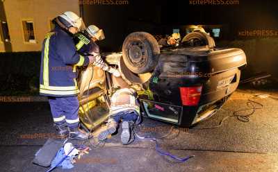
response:
M66 123L70 128L79 126L79 100L77 96L49 96L49 105L54 123L57 125Z

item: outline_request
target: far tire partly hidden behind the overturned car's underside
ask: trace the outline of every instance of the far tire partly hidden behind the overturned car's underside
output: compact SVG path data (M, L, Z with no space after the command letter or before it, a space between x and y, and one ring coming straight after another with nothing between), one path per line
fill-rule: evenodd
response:
M215 46L215 42L212 37L199 31L188 33L185 37L183 37L181 43L186 46Z

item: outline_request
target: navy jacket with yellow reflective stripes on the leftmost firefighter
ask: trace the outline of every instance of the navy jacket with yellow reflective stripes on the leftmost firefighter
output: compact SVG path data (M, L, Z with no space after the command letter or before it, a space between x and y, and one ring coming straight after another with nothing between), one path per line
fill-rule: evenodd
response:
M72 36L59 26L47 33L42 44L40 94L44 96L76 96L76 67L89 64L79 55Z

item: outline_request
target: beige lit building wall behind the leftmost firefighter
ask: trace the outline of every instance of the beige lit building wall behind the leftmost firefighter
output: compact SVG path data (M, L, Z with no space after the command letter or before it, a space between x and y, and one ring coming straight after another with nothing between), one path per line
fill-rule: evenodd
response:
M5 0L3 3L13 51L40 51L44 35L50 31L51 19L65 11L80 13L79 0ZM22 20L26 19L33 21L35 43L24 41Z

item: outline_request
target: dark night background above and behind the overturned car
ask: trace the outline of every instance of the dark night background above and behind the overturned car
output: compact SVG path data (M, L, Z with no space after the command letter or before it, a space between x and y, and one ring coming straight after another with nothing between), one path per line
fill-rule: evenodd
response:
M172 28L188 24L222 25L217 46L234 46L247 54L248 68L243 77L261 71L278 76L276 66L278 36L240 37L239 31L278 31L277 1L240 0L239 5L190 5L181 0L129 1L122 6L83 6L86 24L104 28L106 40L100 42L103 51L121 51L124 37L133 31L153 35L170 35ZM97 14L97 15L96 15ZM181 30L181 36L185 33Z

